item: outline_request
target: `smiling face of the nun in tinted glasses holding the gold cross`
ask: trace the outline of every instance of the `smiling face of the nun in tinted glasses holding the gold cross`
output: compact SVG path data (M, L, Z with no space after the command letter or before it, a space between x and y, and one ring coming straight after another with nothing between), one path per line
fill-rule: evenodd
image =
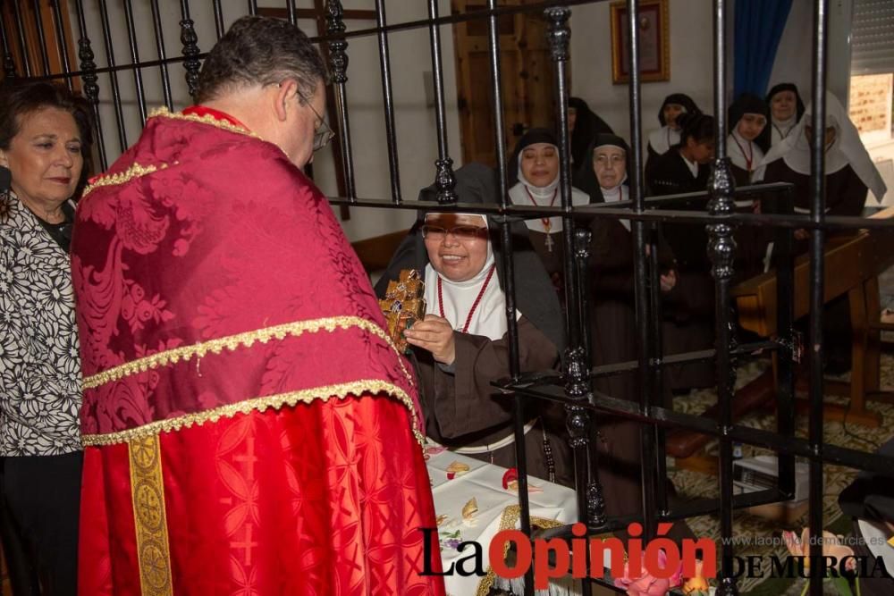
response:
M450 281L468 281L487 261L487 225L481 215L428 214L422 228L428 261Z

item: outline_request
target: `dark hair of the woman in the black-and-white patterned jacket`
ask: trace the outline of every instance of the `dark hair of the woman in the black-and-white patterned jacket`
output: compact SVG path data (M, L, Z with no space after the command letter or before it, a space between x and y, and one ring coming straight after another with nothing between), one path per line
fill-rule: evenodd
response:
M47 107L72 114L86 158L93 142L93 118L87 100L61 85L40 80L7 79L0 84L0 149L9 149L19 134L23 116Z

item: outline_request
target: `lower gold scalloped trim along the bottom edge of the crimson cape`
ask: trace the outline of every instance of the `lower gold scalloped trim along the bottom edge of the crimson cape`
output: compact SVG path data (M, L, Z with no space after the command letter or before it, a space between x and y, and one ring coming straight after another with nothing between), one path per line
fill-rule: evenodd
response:
M167 418L165 420L156 420L156 422L129 428L126 431L108 432L105 434L85 434L81 436L80 441L83 443L84 447L114 445L115 443L122 443L125 441L132 442L145 437L155 437L159 432L179 431L182 428L189 428L194 424L205 424L207 422L215 423L221 418L232 418L237 414L249 414L255 410L263 412L268 407L280 408L283 406L297 406L299 403L309 404L316 399L328 401L333 397L336 399L344 399L349 394L360 395L364 392L390 393L392 396L399 399L409 411L409 419L413 426L413 436L416 437L420 447L424 446L425 438L422 436L422 432L417 425L417 414L413 399L407 395L406 391L402 390L397 385L372 379L361 379L354 382L324 385L322 387L314 387L311 389L268 395L262 398L245 399L234 404L227 404L226 406L215 407L194 414L177 416L176 418Z

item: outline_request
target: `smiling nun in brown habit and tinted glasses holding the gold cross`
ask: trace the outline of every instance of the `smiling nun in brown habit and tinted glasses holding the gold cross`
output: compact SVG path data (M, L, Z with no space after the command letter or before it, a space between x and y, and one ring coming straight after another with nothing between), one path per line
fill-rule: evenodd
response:
M464 203L494 202L493 171L468 164L456 172ZM429 198L425 189L420 198ZM432 197L434 198L434 197ZM376 287L382 296L401 269L424 272L426 317L404 332L413 347L429 440L500 466L515 466L512 399L491 385L509 371L502 254L495 224L482 215L424 216ZM514 237L519 360L523 372L550 369L563 347L558 298L519 223ZM561 407L526 403L527 471L572 485Z

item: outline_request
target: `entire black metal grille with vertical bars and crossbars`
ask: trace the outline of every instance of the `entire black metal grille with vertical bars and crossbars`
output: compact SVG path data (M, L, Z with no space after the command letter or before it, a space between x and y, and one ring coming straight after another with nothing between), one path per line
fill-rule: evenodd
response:
M321 7L322 0L316 0ZM434 180L438 189L439 208L460 210L480 214L492 214L501 222L501 237L504 254L511 255L511 236L509 222L519 218L533 218L550 215L561 215L564 229L574 230L574 233L565 234L565 290L566 290L566 332L569 340L569 348L563 355L563 370L561 384L557 384L554 377L546 377L537 374L520 374L519 372L519 346L518 328L516 318L512 314L515 307L515 289L513 287L513 262L512 258L504 260L503 279L507 282L506 303L510 334L510 373L511 378L499 383L503 389L512 390L515 393L515 432L516 445L524 445L523 426L524 419L521 416L520 404L523 399L551 399L564 404L567 411L568 429L570 433L571 447L575 455L575 472L578 494L578 507L580 521L586 523L591 532L603 532L617 527L626 526L632 519L606 519L604 515L604 502L598 478L590 477L587 473L588 462L595 457L591 449L591 427L594 416L611 414L637 420L641 428L641 441L643 448L643 499L644 499L644 540L654 536L658 521L682 519L688 516L704 515L708 513L718 514L721 518L721 538L730 539L732 536L733 512L736 508L750 507L758 504L778 502L791 499L794 495L794 470L795 457L804 457L809 460L810 484L809 484L809 521L812 536L822 535L822 466L825 463L848 466L859 470L867 470L880 474L894 475L894 458L882 457L865 453L856 449L847 449L832 445L825 445L822 441L822 303L823 303L823 247L826 231L831 229L856 229L856 228L881 228L890 224L880 220L867 220L856 217L827 216L825 214L824 197L824 152L822 135L815 135L812 146L812 174L811 174L811 210L808 217L796 217L790 210L790 187L786 184L763 185L762 187L749 187L735 189L730 173L730 161L726 151L726 88L724 81L728 80L728 65L724 61L727 54L729 41L726 36L726 25L729 21L730 1L713 0L713 113L715 115L715 147L716 155L713 161L712 177L709 188L701 193L679 195L673 197L650 198L644 197L643 184L643 147L642 147L642 118L641 118L641 93L640 73L638 68L630 69L629 78L629 111L630 111L630 140L632 148L630 173L630 197L625 203L617 206L591 205L571 206L571 180L569 172L569 133L567 113L561 107L556 113L556 122L560 139L560 188L561 206L535 207L512 206L507 194L507 172L504 160L497 160L499 171L499 189L501 203L497 206L468 205L457 203L457 197L453 191L454 179L452 173L452 160L448 146L446 132L446 108L444 105L443 68L441 33L439 26L451 25L473 19L486 20L489 28L490 71L493 84L493 115L495 123L495 141L498 155L506 155L505 137L503 134L504 123L502 119L502 83L501 63L498 52L497 19L506 14L519 12L542 13L547 21L549 29L549 42L552 48L552 61L555 69L555 97L556 105L567 105L569 91L567 85L567 62L569 60L569 29L570 6L575 4L589 4L596 0L553 0L540 4L528 4L525 6L498 7L496 0L487 0L486 10L468 14L453 14L440 16L438 14L437 0L427 0L428 19L422 21L403 22L397 25L388 25L385 21L384 0L375 0L376 27L355 31L347 31L344 24L342 4L337 0L325 1L325 20L327 35L315 38L321 46L328 50L332 82L335 91L335 105L337 113L336 128L339 132L339 142L342 149L343 176L346 182L346 197L331 197L333 205L350 205L374 208L392 209L418 209L430 207L431 204L423 204L418 201L406 201L401 198L399 164L397 157L397 138L394 126L394 94L392 92L392 66L389 55L389 34L405 29L428 29L432 55L432 68L434 74L434 99L437 126L438 158L434 163ZM93 106L97 127L97 170L105 170L113 161L113 151L105 145L104 130L111 130L115 126L119 148L123 151L128 146L128 136L122 109L122 92L119 74L129 71L133 77L136 91L137 107L142 122L147 117L147 100L144 92L143 71L145 69L159 70L162 80L162 93L164 104L173 109L174 85L172 76L180 76L177 73L177 64L181 63L185 71L186 88L190 95L196 90L198 71L201 59L204 55L198 47L196 23L190 16L190 0L180 0L179 37L182 44L181 55L167 57L164 49L163 18L158 0L150 0L152 12L152 27L155 35L156 52L159 59L152 61L140 61L139 43L137 40L136 23L133 16L132 0L123 0L125 23L128 34L128 42L131 63L116 64L112 46L112 24L109 21L109 13L105 0L97 0L99 13L102 18L102 31L105 41L105 54L108 66L97 68L94 54L94 42L89 38L88 27L85 18L85 0L74 0L73 13L76 15L78 28L78 55L77 65L74 56L69 54L69 38L66 37L66 29L63 27L63 10L72 10L71 2L64 0L26 0L0 2L9 5L13 14L13 23L17 27L9 30L8 22L2 21L0 28L0 42L3 49L4 76L12 78L16 76L34 77L50 80L63 80L70 88L79 87L85 97ZM31 4L30 7L26 4ZM42 7L42 4L46 6ZM213 13L215 19L215 33L217 38L223 35L223 7L221 0L213 0ZM295 22L297 9L294 0L286 1L286 14L289 21ZM813 83L812 97L814 97L814 113L812 126L814 130L820 130L825 122L825 80L827 63L827 31L829 18L829 0L814 0L814 46L813 46ZM22 27L22 14L30 8L34 14L35 31L37 39L30 39ZM637 1L627 0L628 18L628 55L631 63L638 64L639 32L637 29ZM249 0L247 13L257 13L257 1ZM55 52L53 55L50 45L47 44L47 31L50 25L44 21L44 15L52 17L55 29ZM120 23L118 23L120 25ZM210 27L210 23L208 25ZM52 31L51 31L52 34ZM69 35L72 35L69 33ZM384 96L384 123L388 144L388 157L391 176L392 197L387 199L359 198L354 184L354 164L352 160L349 110L347 109L346 85L348 84L348 47L351 38L361 36L376 36L378 41L379 61L381 67L381 80ZM29 52L29 47L38 46L38 52ZM40 63L32 63L33 56L38 55ZM16 59L18 58L18 59ZM60 64L60 68L51 69L50 63ZM42 66L42 69L38 68ZM55 71L54 71L55 70ZM38 76L38 71L40 74ZM111 87L111 101L113 105L114 122L108 122L100 111L99 77L108 75ZM177 80L174 80L176 83ZM106 114L107 116L107 114ZM117 154L115 154L117 155ZM780 214L737 214L734 213L734 198L744 197L757 191L777 195L783 205L788 204L788 209L783 209ZM708 200L706 212L673 209L673 205L679 205L681 200L697 201ZM668 208L671 206L671 208ZM637 313L637 343L638 359L634 362L620 365L599 366L590 369L588 366L588 347L591 341L600 338L588 337L587 331L587 291L586 271L588 254L588 242L590 232L581 222L592 218L628 219L633 222L632 231L636 241L635 261L635 287L636 287L636 313ZM705 249L713 264L712 274L715 283L715 318L716 318L716 349L707 352L692 352L674 357L673 362L695 362L698 360L713 360L716 366L718 381L719 415L716 420L710 420L702 416L692 416L674 412L672 409L658 405L654 396L656 388L661 382L662 368L671 363L670 359L662 356L662 344L659 330L659 322L656 319L658 284L652 283L650 277L657 275L657 250L654 248L647 253L646 247L650 243L647 231L653 222L684 222L703 224L709 232L709 244ZM576 226L576 223L578 224ZM794 353L793 353L793 261L783 258L779 267L778 277L778 326L780 337L771 342L759 344L737 345L732 334L730 321L730 279L733 273L733 256L735 254L735 241L733 239L734 228L738 225L772 226L776 231L776 246L781 248L786 255L791 246L792 231L796 228L805 228L813 231L810 243L810 345L807 350L810 365L810 414L809 432L807 439L795 437L795 407L794 407ZM650 256L651 255L651 256ZM747 428L733 424L731 401L733 398L733 385L735 382L736 363L748 357L755 348L774 350L779 359L779 394L777 398L778 432L768 432ZM592 388L592 380L606 374L640 374L643 379L639 403L614 399L603 395ZM702 432L716 437L720 443L719 454L719 499L701 499L691 501L684 507L671 509L668 505L667 494L664 490L664 429L686 428ZM734 495L732 484L733 442L740 442L756 447L771 449L778 456L779 484L775 488ZM519 469L525 469L524 449L518 450ZM522 530L530 534L531 527L528 519L527 502L527 478L520 474L519 501L522 508ZM570 536L569 528L564 529L560 535ZM810 556L814 561L822 557L822 544L815 541L810 546ZM718 575L718 593L738 593L737 583L733 577L732 556L733 546L730 540L723 540L721 546L721 567ZM814 569L816 566L814 566ZM817 596L822 594L822 576L812 575L810 579L810 594ZM588 583L590 580L583 580ZM586 586L585 586L586 587ZM533 593L533 581L527 575L526 593ZM586 592L585 592L586 593Z

